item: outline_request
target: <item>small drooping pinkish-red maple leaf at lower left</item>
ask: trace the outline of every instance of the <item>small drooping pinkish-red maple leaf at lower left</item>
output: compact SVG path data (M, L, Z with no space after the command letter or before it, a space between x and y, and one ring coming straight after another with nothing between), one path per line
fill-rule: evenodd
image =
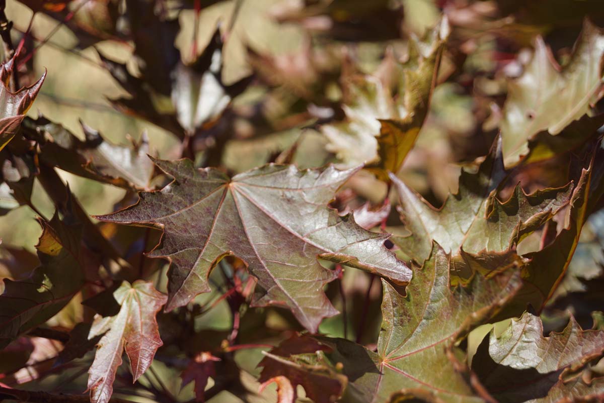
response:
M107 403L113 393L113 382L124 351L130 360L132 378L136 381L149 368L162 345L155 315L167 297L153 288L151 282L123 281L113 293L120 311L115 316L95 318L88 334L98 342L92 366L88 370L88 389L92 403Z

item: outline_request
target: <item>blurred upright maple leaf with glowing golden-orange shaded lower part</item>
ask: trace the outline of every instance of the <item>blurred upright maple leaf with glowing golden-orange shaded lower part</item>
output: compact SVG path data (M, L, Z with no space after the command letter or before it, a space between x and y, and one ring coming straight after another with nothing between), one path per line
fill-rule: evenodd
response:
M350 103L343 106L347 120L321 128L329 140L327 150L336 154L342 167L375 162L369 168L384 180L388 180L388 171L399 170L428 113L448 34L445 18L425 43L415 38L410 41L408 61L396 63L392 73L396 75L396 99L390 86L376 75L349 79L346 84ZM384 61L390 62L388 58Z

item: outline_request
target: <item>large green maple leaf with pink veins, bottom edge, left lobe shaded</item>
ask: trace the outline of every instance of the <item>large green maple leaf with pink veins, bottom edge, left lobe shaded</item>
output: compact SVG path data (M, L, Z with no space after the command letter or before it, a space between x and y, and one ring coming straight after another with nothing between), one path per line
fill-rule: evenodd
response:
M406 296L382 281L377 352L344 339L316 338L348 378L343 401L385 402L394 393L415 389L444 402L482 401L454 369L445 349L498 312L519 290L521 279L512 270L488 280L476 274L467 287L451 288L449 261L434 244L429 260L413 271Z

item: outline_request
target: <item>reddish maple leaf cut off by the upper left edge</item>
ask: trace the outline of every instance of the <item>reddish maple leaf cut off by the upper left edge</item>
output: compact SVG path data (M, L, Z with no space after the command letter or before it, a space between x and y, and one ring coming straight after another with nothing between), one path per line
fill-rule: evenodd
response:
M8 88L8 82L11 74L13 74L13 64L14 58L0 67L0 80L2 81L0 84L0 150L16 135L25 113L36 99L46 77L46 73L44 73L31 86L23 87L17 92L11 92Z

